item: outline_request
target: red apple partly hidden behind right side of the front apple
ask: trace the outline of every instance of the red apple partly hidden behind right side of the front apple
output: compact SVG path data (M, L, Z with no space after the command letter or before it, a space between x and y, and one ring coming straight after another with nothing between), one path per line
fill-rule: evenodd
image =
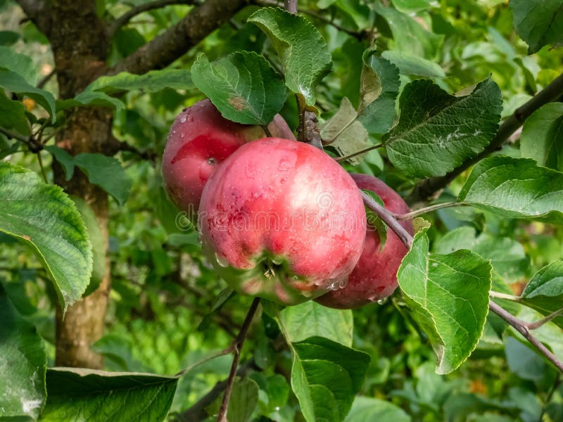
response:
M360 189L377 193L387 210L397 214L410 211L403 198L377 177L367 174L351 176ZM403 220L399 224L410 234L414 233L412 221ZM397 271L407 252L403 242L391 229L387 230L387 240L380 252L379 234L374 229L368 229L362 255L348 277L346 287L317 298L317 302L336 309L354 309L387 298L398 286Z

